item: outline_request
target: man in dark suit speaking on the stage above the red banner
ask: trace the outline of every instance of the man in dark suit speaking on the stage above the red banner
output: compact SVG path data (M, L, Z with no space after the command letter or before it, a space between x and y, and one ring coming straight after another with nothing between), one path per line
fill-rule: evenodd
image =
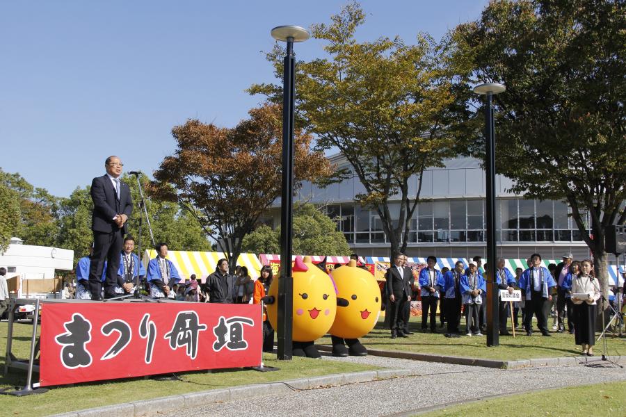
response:
M95 177L91 182L93 256L89 269L89 288L92 300L102 300L100 277L104 261L107 261L104 297L116 296L115 284L120 269L120 252L126 234L126 224L133 211L130 188L127 183L120 181L123 166L120 158L109 156L104 161L106 174Z

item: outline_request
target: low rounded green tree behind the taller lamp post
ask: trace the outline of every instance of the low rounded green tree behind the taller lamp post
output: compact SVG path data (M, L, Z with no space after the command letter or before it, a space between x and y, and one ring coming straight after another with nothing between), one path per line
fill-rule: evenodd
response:
M337 224L321 208L313 204L294 206L294 254L348 256L346 237L337 231ZM262 225L243 238L244 252L255 254L280 253L280 227Z

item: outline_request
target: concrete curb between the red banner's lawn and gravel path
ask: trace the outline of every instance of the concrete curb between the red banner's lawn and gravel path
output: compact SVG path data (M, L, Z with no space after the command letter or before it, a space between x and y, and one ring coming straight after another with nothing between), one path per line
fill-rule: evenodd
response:
M264 384L250 384L233 386L228 389L214 389L180 395L171 395L152 400L123 402L122 404L108 405L81 411L55 414L56 417L142 417L154 416L159 413L177 411L192 407L211 404L212 402L226 402L232 398L255 398L269 394L289 393L291 391L316 389L323 386L357 384L379 379L390 379L413 375L408 369L381 369L367 370L356 373L342 373L321 375L319 377L289 379L288 381L267 382Z

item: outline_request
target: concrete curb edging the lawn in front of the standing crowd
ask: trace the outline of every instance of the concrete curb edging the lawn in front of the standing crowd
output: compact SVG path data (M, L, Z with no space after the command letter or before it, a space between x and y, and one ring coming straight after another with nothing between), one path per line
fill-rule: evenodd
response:
M319 345L318 349L323 352L332 352L332 346L329 345ZM497 369L535 368L539 366L576 366L581 363L592 363L594 361L599 361L602 359L601 356L595 356L524 359L520 361L499 361L495 359L476 359L467 357L444 356L439 354L402 352L399 350L368 349L367 352L369 352L369 354L373 356L378 357L410 359L412 361L450 363L452 365L481 366L483 368ZM607 357L607 359L613 362L626 363L626 357Z

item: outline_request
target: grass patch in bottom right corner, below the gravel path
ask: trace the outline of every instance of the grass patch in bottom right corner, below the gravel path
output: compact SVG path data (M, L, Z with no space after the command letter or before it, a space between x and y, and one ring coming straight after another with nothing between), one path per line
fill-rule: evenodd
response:
M607 382L604 384L570 386L550 389L540 394L508 395L493 400L483 400L469 404L446 407L420 417L482 417L507 416L625 416L626 382ZM520 404L529 401L532 412Z

